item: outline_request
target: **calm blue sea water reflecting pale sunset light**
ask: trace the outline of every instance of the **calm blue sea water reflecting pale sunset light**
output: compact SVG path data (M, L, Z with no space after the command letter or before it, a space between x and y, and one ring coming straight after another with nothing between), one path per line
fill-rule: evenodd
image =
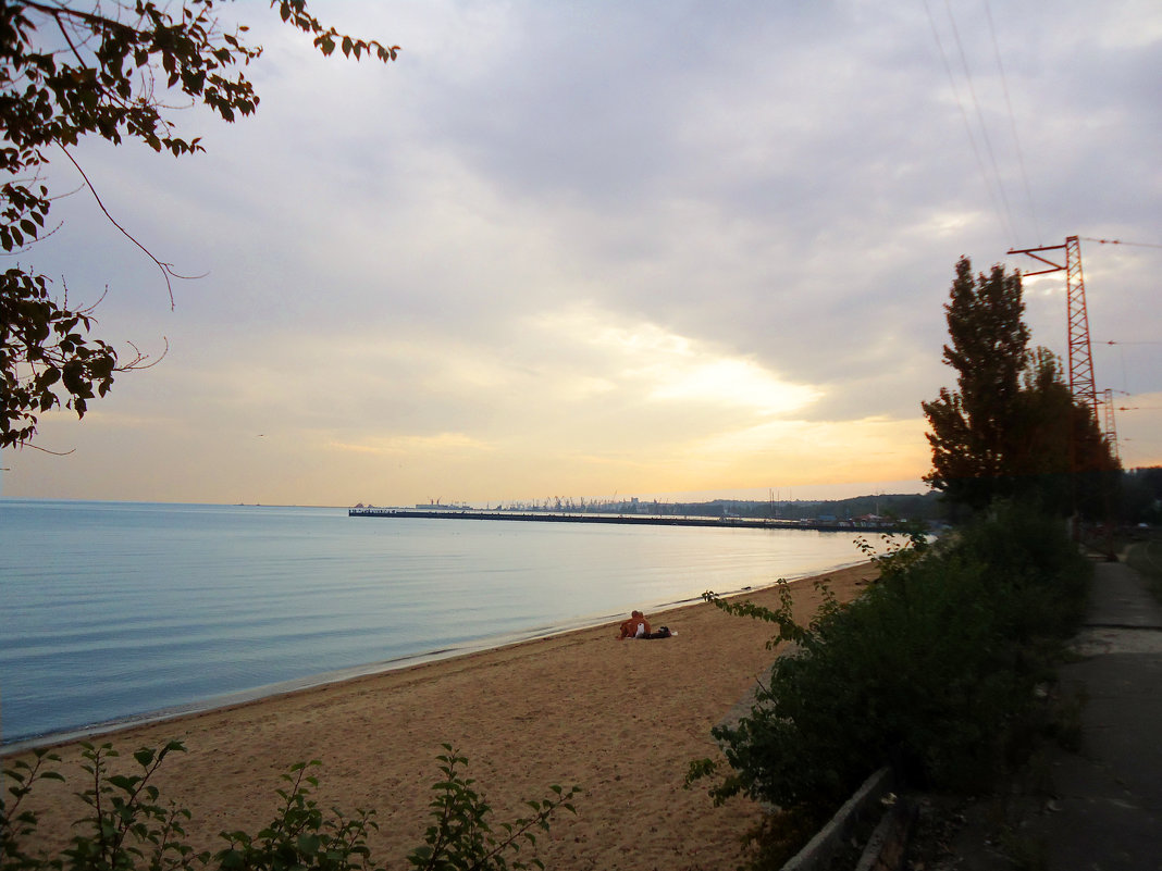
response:
M210 706L858 560L848 533L0 501L0 729Z

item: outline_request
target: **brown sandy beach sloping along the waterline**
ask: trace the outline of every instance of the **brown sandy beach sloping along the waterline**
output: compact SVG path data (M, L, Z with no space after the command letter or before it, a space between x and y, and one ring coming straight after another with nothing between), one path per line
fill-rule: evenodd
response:
M861 564L825 575L839 598L875 575ZM794 583L801 619L818 597ZM746 593L776 604L773 588ZM626 614L627 617L627 614ZM193 714L102 736L131 751L171 739L187 753L158 776L163 796L193 812L199 848L217 849L224 829L257 830L274 815L280 775L318 760L324 807L376 809L373 857L390 869L422 843L436 756L452 744L494 808L494 825L543 798L550 784L583 792L538 838L557 869L737 868L758 819L741 799L713 807L705 789L683 789L691 760L716 756L710 728L765 676L772 627L700 603L647 614L677 632L659 641L617 641L616 625L414 665ZM196 665L194 665L196 667ZM37 797L45 843L63 842L83 814L76 744L55 748L72 783ZM127 766L128 768L128 766ZM526 809L526 808L525 808Z

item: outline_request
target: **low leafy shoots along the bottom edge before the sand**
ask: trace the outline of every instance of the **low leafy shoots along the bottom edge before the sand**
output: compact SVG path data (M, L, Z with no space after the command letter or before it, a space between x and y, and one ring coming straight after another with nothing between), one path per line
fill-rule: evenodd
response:
M35 754L31 762L17 760L3 776L12 782L0 799L0 871L382 871L367 847L376 828L374 811L359 809L347 816L338 809L324 812L311 790L317 778L308 773L320 763L299 763L282 776L287 786L278 790L274 820L257 834L223 832L227 845L217 852L195 852L186 841L184 825L189 811L173 802L162 804L160 791L151 780L171 753L182 751L174 741L160 750L134 754L138 772L110 773L109 760L117 756L110 744L83 744L86 789L77 793L88 806L76 825L70 845L58 856L34 851L37 815L24 800L36 784L64 779L53 770L59 756ZM437 756L440 779L432 784L431 819L424 844L408 855L416 871L519 871L544 864L521 859L522 848L535 849L537 834L547 832L560 809L573 812L578 786L551 786L551 794L524 804L532 811L494 832L492 808L473 789L474 780L461 771L467 758L444 744Z

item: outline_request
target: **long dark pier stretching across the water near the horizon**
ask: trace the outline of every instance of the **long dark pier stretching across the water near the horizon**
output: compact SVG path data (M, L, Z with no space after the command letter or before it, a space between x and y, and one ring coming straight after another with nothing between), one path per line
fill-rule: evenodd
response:
M479 511L475 509L347 509L347 517L387 517L429 520L516 520L528 523L623 524L627 526L718 526L740 530L816 530L820 532L851 532L853 530L884 532L896 528L895 523L869 524L855 520L779 520L751 517L690 517L687 514L600 514L552 511Z

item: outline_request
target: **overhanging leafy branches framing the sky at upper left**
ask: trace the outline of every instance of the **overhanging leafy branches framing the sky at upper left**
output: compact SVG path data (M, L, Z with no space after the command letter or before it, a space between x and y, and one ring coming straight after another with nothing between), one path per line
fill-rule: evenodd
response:
M201 103L227 122L256 110L259 98L244 71L261 48L246 43L245 27L223 29L225 2L0 6L0 246L6 255L19 257L52 231L48 173L60 158L81 170L72 149L83 138L115 145L136 139L181 157L202 146L196 137L181 136L173 98ZM339 50L389 63L399 52L396 45L324 26L307 0L270 5L323 55ZM168 265L145 253L168 286ZM67 288L55 294L50 279L19 261L0 273L0 447L29 444L40 415L52 408L83 417L91 399L108 393L115 373L149 365L139 353L122 360L112 344L91 338L93 309L70 303Z

